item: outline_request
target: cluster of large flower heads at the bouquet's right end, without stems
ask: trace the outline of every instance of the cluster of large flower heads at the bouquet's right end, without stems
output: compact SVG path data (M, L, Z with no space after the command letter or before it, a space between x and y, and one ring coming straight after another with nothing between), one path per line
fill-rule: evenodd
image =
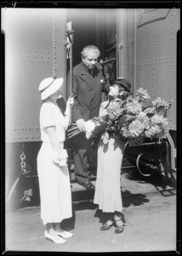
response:
M150 138L151 141L161 141L167 137L168 119L166 113L172 101L167 103L160 97L152 102L151 107L143 107L143 103L151 96L146 90L139 88L136 96L128 101L124 108L126 121L120 133L128 139L129 145L139 145Z

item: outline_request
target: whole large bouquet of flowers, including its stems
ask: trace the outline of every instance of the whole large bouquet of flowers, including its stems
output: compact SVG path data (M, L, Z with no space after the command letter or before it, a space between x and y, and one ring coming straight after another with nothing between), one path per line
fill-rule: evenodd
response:
M166 113L172 102L167 103L157 97L152 106L145 107L144 103L150 98L146 90L139 88L134 98L109 104L104 116L85 122L86 137L89 139L101 135L103 143L108 143L111 135L119 133L128 140L129 145L140 145L145 138L161 141L168 133ZM76 127L72 129L70 137L79 133Z

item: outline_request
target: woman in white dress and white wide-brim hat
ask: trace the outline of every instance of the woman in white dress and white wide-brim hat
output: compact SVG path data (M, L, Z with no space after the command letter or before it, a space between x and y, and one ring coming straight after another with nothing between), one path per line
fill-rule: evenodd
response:
M41 218L46 225L44 236L55 243L65 243L71 232L61 230L60 223L71 218L71 183L64 148L65 130L71 116L73 98L66 102L65 115L56 101L61 97L63 79L43 79L38 90L43 105L40 110L42 146L37 155Z

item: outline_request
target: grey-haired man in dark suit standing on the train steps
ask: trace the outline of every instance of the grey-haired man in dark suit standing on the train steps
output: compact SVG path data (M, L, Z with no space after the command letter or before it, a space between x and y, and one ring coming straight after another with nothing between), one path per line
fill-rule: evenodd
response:
M99 115L101 93L107 91L104 85L105 78L97 65L99 56L100 49L94 45L88 45L82 49L82 61L73 67L72 93L75 103L71 117L72 123L77 124L79 131L85 131L85 121ZM94 189L94 184L89 181L88 177L87 151L90 142L85 137L85 132L73 137L72 141L77 183L86 189Z

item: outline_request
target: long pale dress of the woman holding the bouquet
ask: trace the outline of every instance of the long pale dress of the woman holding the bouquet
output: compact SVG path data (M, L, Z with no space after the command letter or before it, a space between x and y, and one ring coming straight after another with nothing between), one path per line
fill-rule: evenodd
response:
M100 116L106 113L107 104L102 102ZM122 212L120 176L123 148L124 143L119 135L110 136L107 144L100 138L94 204L98 204L103 212Z

